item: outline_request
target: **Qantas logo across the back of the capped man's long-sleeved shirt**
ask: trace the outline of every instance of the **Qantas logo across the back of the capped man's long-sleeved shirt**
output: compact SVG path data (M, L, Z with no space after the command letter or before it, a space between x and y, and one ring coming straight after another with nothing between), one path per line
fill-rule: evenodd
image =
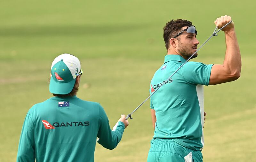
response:
M76 126L89 126L90 122L62 122L62 123L58 123L55 122L53 123L52 126L49 122L47 122L46 120L42 120L42 123L44 124L44 128L45 129L55 129L54 127L76 127Z

